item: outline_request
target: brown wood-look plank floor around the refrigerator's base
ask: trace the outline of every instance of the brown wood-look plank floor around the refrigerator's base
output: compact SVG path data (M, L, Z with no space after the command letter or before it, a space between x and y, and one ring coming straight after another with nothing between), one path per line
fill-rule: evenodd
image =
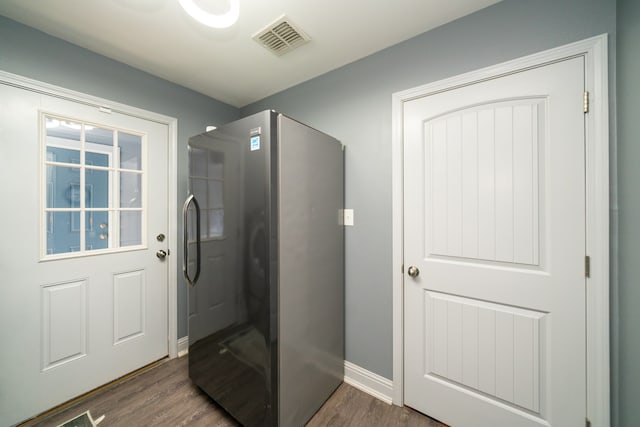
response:
M73 406L25 427L57 426L87 410L106 415L109 426L238 426L200 389L191 384L187 358L168 360L121 383L81 399ZM446 427L409 408L387 405L342 384L307 426Z

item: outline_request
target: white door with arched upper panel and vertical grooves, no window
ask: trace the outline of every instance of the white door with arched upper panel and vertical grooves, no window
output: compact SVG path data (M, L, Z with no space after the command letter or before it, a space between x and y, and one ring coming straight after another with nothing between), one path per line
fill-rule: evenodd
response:
M407 405L584 426L583 92L574 58L405 103Z

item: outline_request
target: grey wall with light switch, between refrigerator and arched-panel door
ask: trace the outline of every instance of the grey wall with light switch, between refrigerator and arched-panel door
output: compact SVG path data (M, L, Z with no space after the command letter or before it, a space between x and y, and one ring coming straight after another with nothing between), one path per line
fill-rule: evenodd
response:
M505 0L242 109L272 108L346 144L346 358L392 377L391 95L602 33L611 0Z

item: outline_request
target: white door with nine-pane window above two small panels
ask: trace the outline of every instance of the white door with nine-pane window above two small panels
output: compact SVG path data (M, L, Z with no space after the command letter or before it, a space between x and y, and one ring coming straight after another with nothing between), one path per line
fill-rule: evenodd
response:
M0 424L168 354L167 126L0 84Z

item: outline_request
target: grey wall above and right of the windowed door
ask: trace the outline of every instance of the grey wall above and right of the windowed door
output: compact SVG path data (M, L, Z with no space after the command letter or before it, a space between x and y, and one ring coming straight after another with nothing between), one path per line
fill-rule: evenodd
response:
M0 70L178 119L178 218L187 194L187 140L239 117L238 109L0 16ZM179 227L181 226L181 221ZM182 229L179 228L179 236ZM182 259L182 245L174 262ZM178 268L178 337L187 335Z

